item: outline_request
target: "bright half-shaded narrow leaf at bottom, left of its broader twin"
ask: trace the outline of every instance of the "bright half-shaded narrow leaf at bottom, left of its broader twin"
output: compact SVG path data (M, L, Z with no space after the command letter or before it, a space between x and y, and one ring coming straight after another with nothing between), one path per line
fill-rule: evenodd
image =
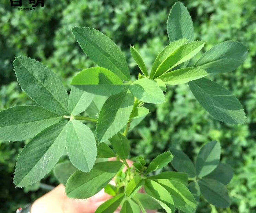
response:
M174 201L163 186L153 180L145 179L144 189L146 193L154 198L166 212L174 212Z

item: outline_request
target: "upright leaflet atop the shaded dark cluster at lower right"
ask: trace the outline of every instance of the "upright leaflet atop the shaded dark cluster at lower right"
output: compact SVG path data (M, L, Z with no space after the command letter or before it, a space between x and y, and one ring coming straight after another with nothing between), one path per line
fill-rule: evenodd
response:
M199 151L196 159L198 177L203 177L212 172L218 165L221 155L219 142L211 141L205 144Z

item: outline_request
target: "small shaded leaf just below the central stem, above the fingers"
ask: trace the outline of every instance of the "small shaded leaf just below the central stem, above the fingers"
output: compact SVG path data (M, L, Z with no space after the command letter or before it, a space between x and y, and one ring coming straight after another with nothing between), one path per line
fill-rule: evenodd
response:
M128 157L130 153L130 143L124 135L118 132L116 135L109 138L109 141L120 158L126 159Z

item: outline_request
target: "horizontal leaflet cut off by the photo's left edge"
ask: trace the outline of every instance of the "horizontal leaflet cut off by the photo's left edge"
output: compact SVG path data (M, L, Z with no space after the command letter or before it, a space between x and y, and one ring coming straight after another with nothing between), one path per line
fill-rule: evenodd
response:
M40 106L14 106L0 112L0 140L22 141L61 120Z

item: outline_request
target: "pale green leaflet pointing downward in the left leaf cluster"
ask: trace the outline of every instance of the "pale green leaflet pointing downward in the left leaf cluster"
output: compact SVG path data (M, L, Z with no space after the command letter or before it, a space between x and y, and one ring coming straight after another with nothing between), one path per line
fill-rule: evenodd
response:
M96 140L90 128L78 120L67 124L67 153L79 170L92 169L97 156Z

